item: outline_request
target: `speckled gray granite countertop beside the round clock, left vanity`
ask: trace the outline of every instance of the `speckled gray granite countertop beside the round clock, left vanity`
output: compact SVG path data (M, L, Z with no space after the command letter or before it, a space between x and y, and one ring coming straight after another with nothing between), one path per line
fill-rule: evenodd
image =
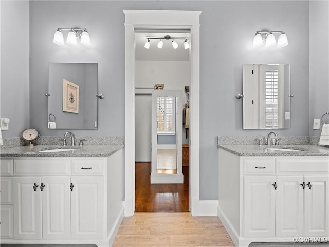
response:
M0 157L108 157L123 147L124 145L19 146L0 150ZM40 152L42 150L63 148L75 148L76 150L63 152Z

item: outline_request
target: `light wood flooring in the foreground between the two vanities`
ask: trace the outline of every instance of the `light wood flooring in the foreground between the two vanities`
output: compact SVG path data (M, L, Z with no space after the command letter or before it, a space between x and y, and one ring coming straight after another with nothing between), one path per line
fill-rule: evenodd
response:
M216 216L190 213L135 213L124 217L113 247L204 247L233 243Z

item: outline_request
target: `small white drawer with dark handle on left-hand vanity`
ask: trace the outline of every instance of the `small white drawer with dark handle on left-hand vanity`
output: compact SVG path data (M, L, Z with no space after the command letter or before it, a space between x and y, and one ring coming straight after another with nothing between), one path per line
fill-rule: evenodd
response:
M73 160L72 161L72 175L76 176L90 176L104 174L104 159L93 160Z

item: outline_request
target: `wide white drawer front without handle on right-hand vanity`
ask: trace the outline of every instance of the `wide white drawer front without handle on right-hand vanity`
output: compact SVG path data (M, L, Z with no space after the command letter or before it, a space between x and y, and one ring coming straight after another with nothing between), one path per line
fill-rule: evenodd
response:
M278 174L328 174L329 157L294 157L277 159Z

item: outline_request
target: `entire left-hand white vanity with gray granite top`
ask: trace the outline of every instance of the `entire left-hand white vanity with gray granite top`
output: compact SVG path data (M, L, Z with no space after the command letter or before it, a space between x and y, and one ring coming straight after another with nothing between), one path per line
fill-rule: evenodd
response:
M2 150L2 244L112 245L124 213L123 146L54 151L62 148Z

